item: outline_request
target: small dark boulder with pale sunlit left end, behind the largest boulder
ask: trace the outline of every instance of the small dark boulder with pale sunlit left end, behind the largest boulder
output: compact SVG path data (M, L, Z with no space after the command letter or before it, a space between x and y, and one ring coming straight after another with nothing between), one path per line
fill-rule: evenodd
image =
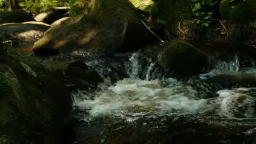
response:
M44 22L46 24L51 24L58 19L67 16L67 12L69 11L69 7L53 7L49 10L38 14L34 17L36 21Z

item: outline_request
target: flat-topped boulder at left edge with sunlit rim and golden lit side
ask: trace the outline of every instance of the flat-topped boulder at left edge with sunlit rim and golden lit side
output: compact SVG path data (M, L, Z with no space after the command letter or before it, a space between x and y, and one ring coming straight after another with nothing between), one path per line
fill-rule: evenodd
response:
M0 25L0 29L10 35L8 40L13 40L13 46L31 46L51 25L43 22L29 21L24 23L7 23Z

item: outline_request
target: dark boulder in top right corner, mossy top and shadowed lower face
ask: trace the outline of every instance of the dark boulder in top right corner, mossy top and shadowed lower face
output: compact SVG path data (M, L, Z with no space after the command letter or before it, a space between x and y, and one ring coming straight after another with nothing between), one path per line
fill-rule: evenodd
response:
M235 6L235 7L234 7ZM233 43L256 44L256 1L222 0L219 5L222 19L227 19L229 39Z

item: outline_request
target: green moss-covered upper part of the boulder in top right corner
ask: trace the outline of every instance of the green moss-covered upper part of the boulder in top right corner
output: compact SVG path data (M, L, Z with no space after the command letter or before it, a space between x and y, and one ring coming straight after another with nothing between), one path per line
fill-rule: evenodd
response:
M247 27L256 27L255 0L235 0L234 2L222 0L219 10L224 19L239 21Z

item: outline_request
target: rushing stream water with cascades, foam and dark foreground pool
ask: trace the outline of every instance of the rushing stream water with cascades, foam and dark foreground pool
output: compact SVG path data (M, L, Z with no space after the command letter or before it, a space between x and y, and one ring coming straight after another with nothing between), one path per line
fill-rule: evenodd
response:
M208 56L205 73L170 77L136 52L92 59L104 83L73 93L74 144L256 144L256 68Z

